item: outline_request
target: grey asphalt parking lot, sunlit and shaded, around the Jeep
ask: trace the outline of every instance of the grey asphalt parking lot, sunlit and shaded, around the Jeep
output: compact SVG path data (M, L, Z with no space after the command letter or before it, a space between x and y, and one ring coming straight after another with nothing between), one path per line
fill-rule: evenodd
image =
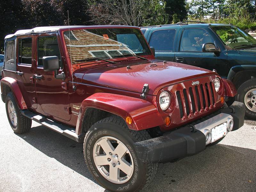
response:
M88 171L83 144L35 122L15 134L0 101L0 191L106 191ZM146 192L256 191L255 121L245 120L220 144L174 163L159 164Z

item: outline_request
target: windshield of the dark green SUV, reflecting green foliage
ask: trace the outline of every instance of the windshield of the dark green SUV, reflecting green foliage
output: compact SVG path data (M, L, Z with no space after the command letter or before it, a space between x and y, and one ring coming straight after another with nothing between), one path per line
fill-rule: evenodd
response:
M212 28L220 39L232 49L240 49L256 44L256 39L235 26L218 26Z

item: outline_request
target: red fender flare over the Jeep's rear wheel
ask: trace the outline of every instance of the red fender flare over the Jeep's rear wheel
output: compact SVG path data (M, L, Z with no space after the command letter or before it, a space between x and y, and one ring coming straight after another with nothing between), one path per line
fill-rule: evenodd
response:
M6 84L12 90L12 93L18 104L18 107L20 109L27 109L27 105L22 96L17 80L12 77L4 77L3 79L1 79L1 94L3 94L3 84Z

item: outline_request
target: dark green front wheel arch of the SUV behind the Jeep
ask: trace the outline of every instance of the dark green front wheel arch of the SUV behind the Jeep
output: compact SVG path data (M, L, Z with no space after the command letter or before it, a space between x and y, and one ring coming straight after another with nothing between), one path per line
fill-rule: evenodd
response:
M255 65L236 65L228 73L228 80L238 89L245 81L256 78Z

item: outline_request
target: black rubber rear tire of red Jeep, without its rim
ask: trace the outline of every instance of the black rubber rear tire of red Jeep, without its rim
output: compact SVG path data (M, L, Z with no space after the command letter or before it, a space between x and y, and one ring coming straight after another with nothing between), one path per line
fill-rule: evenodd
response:
M14 108L15 108L15 111L16 111L16 116L17 116L17 125L14 126L12 124L12 121L10 119L10 116L9 116L9 113L8 113L8 102L11 101ZM28 132L31 128L31 124L32 124L32 120L29 119L28 117L25 117L23 115L21 115L20 113L20 109L16 103L16 100L15 100L15 97L13 95L12 92L9 92L6 96L6 99L5 99L5 109L6 109L6 115L7 115L7 118L8 118L8 121L9 121L9 124L11 125L12 127L12 130L15 132L15 133L25 133L25 132Z

